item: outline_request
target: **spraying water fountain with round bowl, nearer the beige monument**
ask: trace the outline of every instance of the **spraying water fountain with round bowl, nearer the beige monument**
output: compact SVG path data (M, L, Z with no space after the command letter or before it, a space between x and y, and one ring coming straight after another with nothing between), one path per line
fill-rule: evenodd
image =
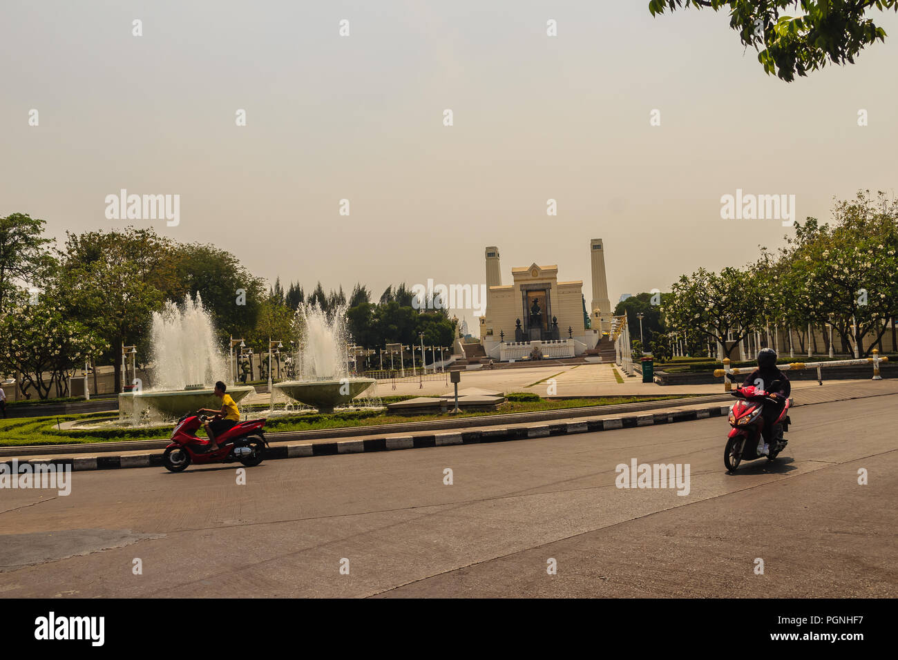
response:
M319 412L333 412L365 392L373 378L350 377L347 365L345 310L329 315L316 304L301 304L294 317L300 337L294 356L295 381L276 383L276 392L313 406Z

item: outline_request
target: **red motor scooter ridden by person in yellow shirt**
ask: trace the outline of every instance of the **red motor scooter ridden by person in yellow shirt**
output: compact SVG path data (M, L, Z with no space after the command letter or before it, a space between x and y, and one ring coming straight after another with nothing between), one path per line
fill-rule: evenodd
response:
M265 458L265 447L269 442L262 435L264 419L248 419L216 437L218 449L208 452L211 444L207 438L197 436L197 429L206 421L205 415L185 415L178 420L172 431L172 444L165 447L163 465L172 472L187 469L190 463L240 461L248 468L259 465Z

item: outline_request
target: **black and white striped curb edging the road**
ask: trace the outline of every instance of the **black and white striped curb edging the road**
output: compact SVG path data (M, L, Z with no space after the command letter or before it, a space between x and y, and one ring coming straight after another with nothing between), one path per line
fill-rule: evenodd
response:
M339 453L389 452L394 449L442 447L450 444L495 443L508 440L527 440L536 437L572 436L578 433L595 433L596 431L610 431L616 428L650 427L694 419L726 417L729 414L729 410L730 406L716 405L709 408L656 412L628 417L583 419L554 424L533 424L525 427L498 427L454 433L362 438L358 440L338 440L332 443L275 444L265 451L265 458L266 460L308 458L312 456L333 456ZM5 463L12 468L12 462L6 461ZM138 453L122 456L84 456L18 461L19 465L25 463L29 465L71 465L73 471L152 468L162 467L163 454Z

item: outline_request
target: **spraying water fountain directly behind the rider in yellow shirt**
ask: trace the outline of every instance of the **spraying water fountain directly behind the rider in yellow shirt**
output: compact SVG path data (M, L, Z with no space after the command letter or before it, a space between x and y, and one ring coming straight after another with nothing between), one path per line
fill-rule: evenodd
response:
M151 347L153 386L119 394L119 419L180 418L200 408L221 408L214 387L225 381L227 361L199 294L185 296L180 307L166 302L162 312L153 313ZM251 392L251 385L227 388L234 401Z

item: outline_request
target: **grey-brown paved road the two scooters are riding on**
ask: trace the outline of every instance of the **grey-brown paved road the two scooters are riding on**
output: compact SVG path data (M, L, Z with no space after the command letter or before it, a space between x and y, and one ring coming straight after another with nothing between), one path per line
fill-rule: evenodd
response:
M792 418L780 461L735 475L721 418L274 461L246 485L78 472L68 497L0 490L0 595L898 595L898 395ZM689 494L615 488L634 458L688 463Z

